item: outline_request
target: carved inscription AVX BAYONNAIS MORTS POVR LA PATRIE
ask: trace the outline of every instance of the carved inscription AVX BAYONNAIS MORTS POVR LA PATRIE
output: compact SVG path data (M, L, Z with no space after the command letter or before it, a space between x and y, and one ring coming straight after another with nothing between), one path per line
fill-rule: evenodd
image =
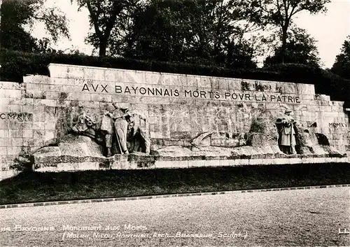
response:
M189 97L200 99L221 99L221 100L237 100L237 101L265 101L265 102L283 102L300 104L300 97L291 95L276 95L276 94L253 94L252 92L220 92L211 90L179 90L165 89L160 87L137 87L116 85L111 88L109 85L83 85L82 92L102 92L102 93L117 93L129 95L144 95L144 96L162 96L162 97Z

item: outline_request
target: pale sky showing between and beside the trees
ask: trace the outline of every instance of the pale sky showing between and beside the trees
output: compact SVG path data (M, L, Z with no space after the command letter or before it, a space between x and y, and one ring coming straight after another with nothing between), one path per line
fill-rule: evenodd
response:
M78 6L74 1L71 3L71 0L48 0L46 6L57 6L69 19L71 40L62 38L56 45L52 45L53 48L75 49L92 55L92 46L84 42L90 30L87 9L83 8L78 12ZM302 12L296 15L294 21L298 27L306 29L316 39L322 65L331 68L346 36L350 35L350 0L332 0L326 6L328 12L325 14L310 15ZM36 25L32 34L36 38L47 36L42 24Z

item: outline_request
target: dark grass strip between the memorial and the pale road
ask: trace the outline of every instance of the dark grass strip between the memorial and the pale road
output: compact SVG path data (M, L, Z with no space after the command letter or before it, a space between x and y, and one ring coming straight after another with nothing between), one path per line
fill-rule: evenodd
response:
M23 172L0 182L0 204L344 183L349 163Z

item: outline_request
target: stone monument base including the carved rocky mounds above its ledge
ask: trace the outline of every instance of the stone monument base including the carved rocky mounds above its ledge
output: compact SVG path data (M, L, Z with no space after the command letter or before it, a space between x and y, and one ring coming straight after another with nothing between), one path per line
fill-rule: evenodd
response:
M164 169L192 167L237 167L270 164L310 164L348 162L345 154L330 146L317 146L318 154L286 155L278 146L168 146L151 155L130 153L105 157L102 147L87 136L64 136L54 146L34 153L35 171L82 171L108 169Z

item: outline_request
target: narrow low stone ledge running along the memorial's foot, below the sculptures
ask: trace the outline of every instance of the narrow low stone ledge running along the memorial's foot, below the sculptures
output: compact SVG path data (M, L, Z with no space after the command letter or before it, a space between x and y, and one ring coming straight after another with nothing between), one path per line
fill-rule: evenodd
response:
M209 158L209 159L208 159ZM73 160L73 159L72 159ZM84 171L109 169L184 169L193 167L241 167L246 165L274 165L274 164L313 164L313 163L344 163L349 162L347 157L330 157L330 155L293 155L281 158L249 158L237 160L211 160L210 157L158 157L143 155L114 155L104 162L57 162L36 164L35 171Z

